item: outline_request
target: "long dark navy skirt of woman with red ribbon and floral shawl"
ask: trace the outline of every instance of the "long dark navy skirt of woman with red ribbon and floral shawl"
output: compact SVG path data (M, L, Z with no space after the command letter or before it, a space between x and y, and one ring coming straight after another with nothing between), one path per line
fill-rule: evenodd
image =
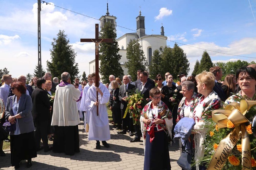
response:
M170 156L167 134L155 131L155 137L150 143L150 135L146 135L144 170L170 170Z

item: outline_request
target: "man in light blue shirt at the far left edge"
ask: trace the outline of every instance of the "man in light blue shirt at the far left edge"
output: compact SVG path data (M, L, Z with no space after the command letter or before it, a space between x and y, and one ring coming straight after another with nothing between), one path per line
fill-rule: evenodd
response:
M0 87L0 99L3 99L3 103L6 106L7 98L9 95L10 90L10 84L12 83L12 78L10 74L3 75L3 80L5 81L5 84Z

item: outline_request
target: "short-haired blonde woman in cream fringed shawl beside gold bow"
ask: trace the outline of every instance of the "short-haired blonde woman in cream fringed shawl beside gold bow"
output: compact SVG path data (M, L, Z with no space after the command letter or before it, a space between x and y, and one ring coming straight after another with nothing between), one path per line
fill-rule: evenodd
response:
M201 159L204 156L204 146L203 142L206 135L205 121L211 118L211 111L219 109L221 99L212 90L215 85L215 76L211 72L203 71L202 73L196 75L196 82L198 93L202 96L196 101L191 109L189 117L193 118L195 121L194 125L194 145L195 145L195 163L197 170L204 170L205 167L199 166Z

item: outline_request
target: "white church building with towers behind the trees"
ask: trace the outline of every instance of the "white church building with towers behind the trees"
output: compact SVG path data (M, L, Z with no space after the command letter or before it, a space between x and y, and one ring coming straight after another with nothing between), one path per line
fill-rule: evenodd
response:
M100 17L99 19L100 28L102 28L106 22L111 22L113 24L114 31L116 32L116 25L117 25L116 19L117 18L115 16L109 15L108 5L107 5L106 15ZM130 40L132 39L138 40L144 52L144 57L146 58L148 65L151 64L153 51L155 50L163 51L164 47L166 46L167 37L164 36L163 26L160 28L159 35L146 35L145 34L145 17L141 16L141 11L139 11L139 16L137 16L136 18L136 23L137 23L136 32L124 34L121 37L117 38L116 40L118 42L118 47L120 48L118 53L122 56L120 59L120 64L124 71L123 72L124 75L128 74L128 69L125 68L125 62L127 61L126 48L128 47ZM100 61L99 61L99 65L100 65ZM95 72L95 59L89 62L89 72L90 72L89 74L92 74L93 72Z

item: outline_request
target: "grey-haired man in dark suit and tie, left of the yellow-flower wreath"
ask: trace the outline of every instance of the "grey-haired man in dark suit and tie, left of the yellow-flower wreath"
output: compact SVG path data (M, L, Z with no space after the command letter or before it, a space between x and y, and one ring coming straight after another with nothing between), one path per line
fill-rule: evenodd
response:
M127 113L126 117L123 118L124 114L125 114L125 110L127 107L127 103L128 101L126 101L126 98L128 98L128 96L126 96L126 92L127 95L129 95L131 93L131 90L134 89L135 86L129 83L129 78L127 75L123 76L123 84L120 86L120 90L119 90L119 100L121 101L121 111L122 111L122 130L120 132L117 132L118 134L126 134L127 132L127 126L128 126L128 130L130 131L129 135L133 136L133 132L131 132L133 130L133 119L130 118L130 114Z

